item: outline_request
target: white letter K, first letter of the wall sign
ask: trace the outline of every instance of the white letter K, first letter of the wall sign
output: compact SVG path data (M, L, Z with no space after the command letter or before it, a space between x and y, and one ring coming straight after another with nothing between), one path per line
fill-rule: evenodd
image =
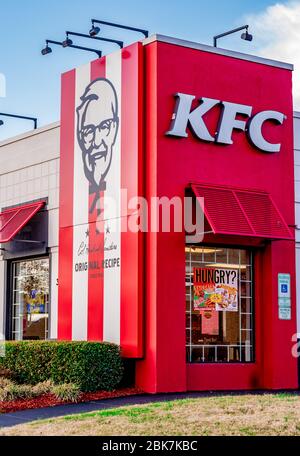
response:
M191 111L192 102L196 97L185 93L176 93L176 106L170 130L166 133L169 136L180 136L187 138L186 132L188 122L198 138L203 141L214 141L215 138L209 133L203 120L204 114L220 103L220 100L212 98L200 98L200 105Z

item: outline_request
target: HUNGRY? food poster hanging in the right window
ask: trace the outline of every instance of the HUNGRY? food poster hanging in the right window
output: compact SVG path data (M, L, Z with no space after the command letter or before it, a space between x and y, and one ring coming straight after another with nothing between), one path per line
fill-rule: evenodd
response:
M238 311L238 269L193 268L194 310Z

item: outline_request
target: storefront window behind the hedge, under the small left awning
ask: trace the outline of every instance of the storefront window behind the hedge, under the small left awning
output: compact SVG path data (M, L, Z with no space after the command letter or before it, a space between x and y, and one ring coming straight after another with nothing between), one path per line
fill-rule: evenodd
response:
M12 338L48 338L49 259L12 264Z

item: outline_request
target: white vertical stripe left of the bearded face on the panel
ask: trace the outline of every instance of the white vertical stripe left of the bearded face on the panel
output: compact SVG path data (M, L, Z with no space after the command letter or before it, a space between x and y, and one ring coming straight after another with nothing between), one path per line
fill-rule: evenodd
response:
M73 306L72 306L72 340L87 340L88 318L88 269L75 272L76 264L88 262L88 214L89 182L84 174L82 152L77 142L77 114L80 97L91 82L90 64L76 69L75 85L75 134L74 134L74 196L73 196ZM81 248L80 248L81 247Z

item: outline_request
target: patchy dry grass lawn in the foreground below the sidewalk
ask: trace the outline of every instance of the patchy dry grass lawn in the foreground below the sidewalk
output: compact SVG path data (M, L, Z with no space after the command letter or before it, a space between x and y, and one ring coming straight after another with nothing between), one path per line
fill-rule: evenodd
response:
M300 396L209 396L99 410L19 425L0 435L298 435Z

